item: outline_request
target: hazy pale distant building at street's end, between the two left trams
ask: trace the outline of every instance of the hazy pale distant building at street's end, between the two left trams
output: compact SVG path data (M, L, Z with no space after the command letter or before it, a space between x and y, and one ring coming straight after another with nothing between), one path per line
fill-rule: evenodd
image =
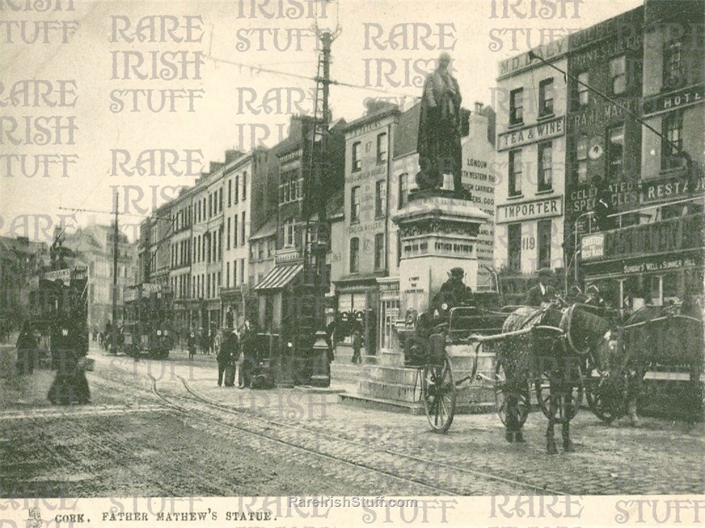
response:
M63 246L71 249L80 262L88 267L88 327L102 329L111 321L113 305L114 227L90 225L68 234ZM123 313L123 290L133 284L137 275L137 244L130 244L125 234L118 232L118 273L116 303L118 318ZM166 264L168 272L168 262Z

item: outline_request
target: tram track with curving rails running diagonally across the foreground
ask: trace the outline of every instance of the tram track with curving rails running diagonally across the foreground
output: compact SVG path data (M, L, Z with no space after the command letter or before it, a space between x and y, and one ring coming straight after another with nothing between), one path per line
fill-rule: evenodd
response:
M305 451L309 451L310 453L318 456L324 456L327 458L333 458L334 460L341 461L343 463L348 463L351 465L355 465L356 467L364 468L365 470L371 470L374 472L381 472L383 474L389 475L391 477L395 477L398 479L402 479L407 482L414 482L415 484L422 484L424 486L430 487L431 489L434 489L434 491L438 491L439 493L442 494L448 494L448 495L465 495L465 494L477 494L477 486L479 484L483 485L483 489L486 490L488 482L493 482L493 483L502 483L508 486L511 486L511 491L516 494L521 494L521 493L526 493L527 491L531 491L532 493L537 493L540 492L541 494L553 494L553 495L564 495L565 492L562 491L556 491L553 489L549 489L544 486L537 486L536 484L531 484L529 482L521 482L516 479L510 479L507 477L502 477L501 475L497 474L491 474L488 472L482 472L479 470L472 470L467 467L461 467L458 465L453 465L447 462L439 462L437 460L429 460L427 458L423 458L417 455L412 455L410 453L403 453L400 451L393 450L391 448L387 448L384 446L373 446L370 445L369 443L364 443L361 441L353 440L353 439L347 439L342 436L336 436L333 434L329 434L326 432L320 432L320 431L314 431L309 428L305 427L300 427L298 425L292 425L290 423L286 422L280 422L277 420L271 420L270 418L266 417L260 417L252 413L250 410L238 410L237 408L232 408L230 406L224 406L223 404L213 401L210 398L207 398L206 396L203 396L202 394L199 394L197 391L192 389L192 387L189 386L188 382L181 376L177 376L178 379L180 379L181 383L183 384L185 390L192 396L192 398L185 397L184 399L187 400L193 400L194 398L197 401L200 401L202 404L209 406L209 408L213 408L218 410L221 413L226 413L227 415L237 415L239 418L242 418L243 416L248 417L249 419L254 419L256 421L259 421L259 423L263 423L264 425L269 425L269 428L271 429L272 426L277 427L280 429L280 431L288 432L289 435L292 435L295 439L298 441L304 441L305 438L309 437L313 439L313 442L308 442L308 444L313 444L313 445L321 445L320 439L324 439L326 442L330 444L329 447L329 452L323 453L321 451L317 450L312 450L310 448L305 448L303 446L300 446L300 444L297 444L295 441L291 440L286 440L286 439L281 439L281 438L276 438L273 436L270 436L268 434L261 434L258 432L253 432L251 429L248 429L246 427L236 427L237 429L240 430L245 430L246 432L250 434L256 434L257 436L264 436L264 438L267 438L271 441L276 441L280 442L283 444L286 444L288 446L292 446L294 448L302 448L305 449ZM155 386L156 388L156 386ZM399 470L405 471L406 467L411 467L412 470L414 468L422 468L424 472L427 474L430 472L433 477L431 477L431 482L434 480L438 482L439 484L443 482L443 486L441 485L433 485L433 484L428 484L429 480L421 480L417 477L414 477L413 475L408 474L407 476L403 477L400 474L397 474L396 472L388 472L388 471L380 471L379 470L379 465L374 463L360 463L359 461L351 461L348 459L343 459L339 455L331 454L331 451L333 453L359 453L359 456L362 457L362 460L370 460L373 457L371 456L371 453L376 453L376 457L374 458L381 458L381 462L384 463L384 460L393 460L393 463L389 467L398 467ZM401 461L405 461L405 463L401 464ZM484 491L483 494L486 494L486 491Z

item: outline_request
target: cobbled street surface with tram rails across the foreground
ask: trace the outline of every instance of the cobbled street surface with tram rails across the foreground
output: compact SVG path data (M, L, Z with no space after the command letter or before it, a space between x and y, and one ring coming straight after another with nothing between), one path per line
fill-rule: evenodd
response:
M338 403L330 390L221 389L213 356L164 361L92 349L92 403L49 406L53 372L9 375L2 356L1 495L702 494L702 423L572 422L576 452L546 455L546 420L508 444L494 414L423 416ZM225 439L225 440L223 440ZM310 475L317 478L311 479Z

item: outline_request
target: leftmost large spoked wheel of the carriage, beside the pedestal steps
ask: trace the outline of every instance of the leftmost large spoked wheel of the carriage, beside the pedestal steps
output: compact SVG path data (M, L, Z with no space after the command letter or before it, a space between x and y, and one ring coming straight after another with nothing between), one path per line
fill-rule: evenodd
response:
M436 433L448 431L453 423L455 398L458 396L448 356L443 357L441 365L424 367L421 393L431 429Z

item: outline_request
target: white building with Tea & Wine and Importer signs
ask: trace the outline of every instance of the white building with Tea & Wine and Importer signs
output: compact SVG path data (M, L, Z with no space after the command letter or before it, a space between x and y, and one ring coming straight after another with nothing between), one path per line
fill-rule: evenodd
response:
M567 39L532 50L565 70ZM494 260L503 291L524 296L539 268L563 268L566 84L522 54L499 65Z

